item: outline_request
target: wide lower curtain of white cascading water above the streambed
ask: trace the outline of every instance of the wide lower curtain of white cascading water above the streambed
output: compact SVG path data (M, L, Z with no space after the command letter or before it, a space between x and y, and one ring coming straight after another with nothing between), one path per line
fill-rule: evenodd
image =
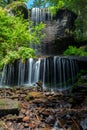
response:
M25 63L21 61L13 65L5 65L1 84L17 86L35 86L41 81L43 87L54 90L66 90L75 82L78 65L76 60L65 57L47 57Z

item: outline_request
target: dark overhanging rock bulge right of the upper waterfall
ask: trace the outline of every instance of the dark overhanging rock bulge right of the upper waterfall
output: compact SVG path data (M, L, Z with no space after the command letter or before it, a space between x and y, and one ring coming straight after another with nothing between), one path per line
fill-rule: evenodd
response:
M74 28L76 15L67 9L58 10L50 21L45 21L45 32L47 37L44 42L52 42L56 39L69 37L70 31Z

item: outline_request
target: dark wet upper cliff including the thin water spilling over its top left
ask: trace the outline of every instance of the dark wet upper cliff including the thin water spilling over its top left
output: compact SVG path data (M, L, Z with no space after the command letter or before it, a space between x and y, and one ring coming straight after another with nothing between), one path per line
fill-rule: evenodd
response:
M42 40L41 46L37 47L39 52L44 55L60 54L68 45L74 43L71 32L77 16L73 12L60 9L54 17L50 17L51 14L46 9L33 11L31 10L31 20L34 23L43 21L46 24L44 30L46 37ZM44 12L44 16L43 13L40 14L41 12Z

